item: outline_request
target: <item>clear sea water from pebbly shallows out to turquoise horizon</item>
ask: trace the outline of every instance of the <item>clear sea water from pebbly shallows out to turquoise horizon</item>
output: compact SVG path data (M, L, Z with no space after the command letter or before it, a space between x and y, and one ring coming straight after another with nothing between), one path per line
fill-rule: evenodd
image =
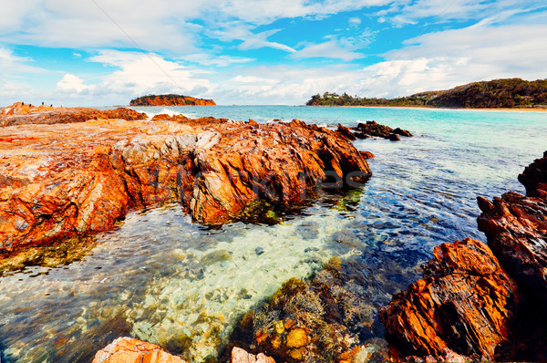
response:
M136 109L155 114L165 108ZM89 361L123 335L204 360L225 342L238 316L334 255L375 275L381 284L371 299L382 306L416 279L434 246L484 240L476 228L476 197L523 192L517 175L547 150L547 113L541 112L169 109L189 117L297 118L326 126L375 119L415 137L357 140L359 150L377 155L366 186L323 195L281 224L211 230L171 205L130 213L116 231L99 234L81 260L1 277L3 362Z

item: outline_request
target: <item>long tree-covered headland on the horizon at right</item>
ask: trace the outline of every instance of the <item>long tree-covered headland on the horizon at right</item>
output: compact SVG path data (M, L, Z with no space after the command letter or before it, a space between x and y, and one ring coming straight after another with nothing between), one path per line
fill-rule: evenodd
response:
M306 106L397 106L454 109L500 109L547 107L547 79L521 78L473 82L449 90L428 91L397 99L366 99L344 93L325 92Z

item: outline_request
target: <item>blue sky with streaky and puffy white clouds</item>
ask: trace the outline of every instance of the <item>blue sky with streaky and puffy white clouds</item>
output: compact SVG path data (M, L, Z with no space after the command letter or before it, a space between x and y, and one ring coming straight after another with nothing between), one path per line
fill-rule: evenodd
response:
M301 105L543 79L546 36L545 0L9 0L0 106Z

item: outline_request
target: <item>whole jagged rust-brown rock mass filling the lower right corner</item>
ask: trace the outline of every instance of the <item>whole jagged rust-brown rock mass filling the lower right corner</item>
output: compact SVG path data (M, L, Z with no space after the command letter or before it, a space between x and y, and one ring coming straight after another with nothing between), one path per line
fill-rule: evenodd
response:
M405 359L547 357L547 151L519 181L527 196L478 198L488 246L470 239L440 245L424 279L380 312Z

